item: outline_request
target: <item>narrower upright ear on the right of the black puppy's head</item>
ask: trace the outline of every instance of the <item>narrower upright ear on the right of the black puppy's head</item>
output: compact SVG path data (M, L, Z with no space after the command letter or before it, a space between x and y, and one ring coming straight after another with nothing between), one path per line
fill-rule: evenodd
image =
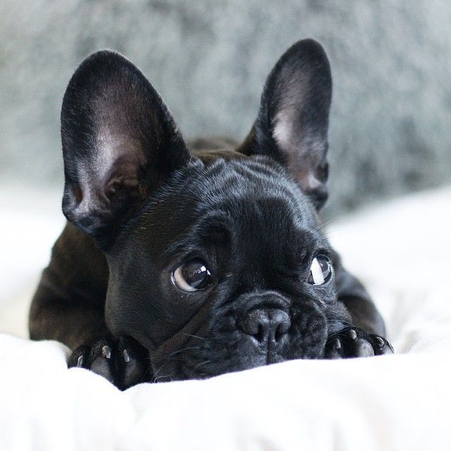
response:
M326 52L313 39L292 45L266 80L257 121L238 149L283 163L316 209L328 191L327 132L332 77Z

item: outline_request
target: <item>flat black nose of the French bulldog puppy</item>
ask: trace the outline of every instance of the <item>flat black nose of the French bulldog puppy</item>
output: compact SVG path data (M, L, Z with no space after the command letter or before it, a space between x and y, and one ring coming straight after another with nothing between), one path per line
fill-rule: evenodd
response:
M290 315L280 309L254 309L249 311L241 323L243 332L259 342L276 342L290 330Z

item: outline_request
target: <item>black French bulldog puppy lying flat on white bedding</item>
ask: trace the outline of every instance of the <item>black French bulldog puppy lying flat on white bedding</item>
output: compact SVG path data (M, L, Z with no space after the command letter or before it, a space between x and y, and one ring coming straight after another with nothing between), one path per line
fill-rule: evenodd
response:
M185 144L144 75L89 56L63 99L68 224L30 336L118 387L288 359L393 352L316 214L327 198L332 82L307 39L266 81L245 142Z

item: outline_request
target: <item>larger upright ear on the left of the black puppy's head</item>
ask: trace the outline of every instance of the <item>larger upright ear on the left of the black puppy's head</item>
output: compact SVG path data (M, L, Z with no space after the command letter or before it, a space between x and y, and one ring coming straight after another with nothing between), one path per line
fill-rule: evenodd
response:
M125 217L190 159L159 94L113 51L92 54L75 71L61 139L63 213L104 248Z

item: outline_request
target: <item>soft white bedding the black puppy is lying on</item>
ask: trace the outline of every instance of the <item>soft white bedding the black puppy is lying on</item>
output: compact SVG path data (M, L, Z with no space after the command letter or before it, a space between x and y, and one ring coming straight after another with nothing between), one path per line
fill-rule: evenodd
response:
M450 210L447 188L329 227L381 308L397 354L285 362L121 393L66 369L63 345L0 335L0 450L451 450ZM35 223L45 221L36 214ZM8 218L5 246L14 213ZM47 245L26 246L35 264ZM24 271L22 295L6 284L0 302L0 331L21 335L37 268L1 271L10 281Z

